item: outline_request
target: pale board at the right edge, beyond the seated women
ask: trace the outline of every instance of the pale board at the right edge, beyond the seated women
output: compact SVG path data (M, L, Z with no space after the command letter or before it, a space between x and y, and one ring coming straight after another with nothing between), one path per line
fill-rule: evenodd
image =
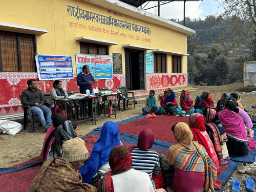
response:
M244 87L256 86L256 61L244 62Z

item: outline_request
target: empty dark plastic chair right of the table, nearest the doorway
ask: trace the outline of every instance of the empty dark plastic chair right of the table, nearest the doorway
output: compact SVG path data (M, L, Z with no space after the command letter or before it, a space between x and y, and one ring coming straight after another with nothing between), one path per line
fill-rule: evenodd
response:
M125 111L125 101L126 101L126 108L128 108L129 100L133 100L134 109L135 109L135 96L134 92L127 92L126 86L116 86L116 91L118 93L118 104L117 108L119 107L120 111L120 101L123 101L123 111ZM132 97L128 97L128 94L132 94Z

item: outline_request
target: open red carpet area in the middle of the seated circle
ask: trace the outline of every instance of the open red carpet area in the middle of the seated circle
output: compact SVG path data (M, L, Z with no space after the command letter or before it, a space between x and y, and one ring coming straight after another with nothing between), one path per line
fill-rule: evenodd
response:
M120 133L139 135L143 129L151 129L155 134L155 139L167 141L169 143L178 143L174 138L172 126L178 122L188 124L188 117L174 115L157 115L156 118L141 118L131 122L118 125Z

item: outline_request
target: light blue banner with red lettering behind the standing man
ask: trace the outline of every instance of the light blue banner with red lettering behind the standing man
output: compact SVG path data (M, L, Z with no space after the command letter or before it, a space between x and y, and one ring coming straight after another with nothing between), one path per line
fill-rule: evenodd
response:
M91 55L76 53L77 74L81 73L82 67L88 65L94 79L113 78L113 59L110 55Z

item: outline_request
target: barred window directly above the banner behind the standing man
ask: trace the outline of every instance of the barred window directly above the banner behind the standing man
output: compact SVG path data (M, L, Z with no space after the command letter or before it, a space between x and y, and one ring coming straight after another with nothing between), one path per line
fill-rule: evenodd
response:
M87 42L80 42L80 53L108 55L108 46L89 44Z

